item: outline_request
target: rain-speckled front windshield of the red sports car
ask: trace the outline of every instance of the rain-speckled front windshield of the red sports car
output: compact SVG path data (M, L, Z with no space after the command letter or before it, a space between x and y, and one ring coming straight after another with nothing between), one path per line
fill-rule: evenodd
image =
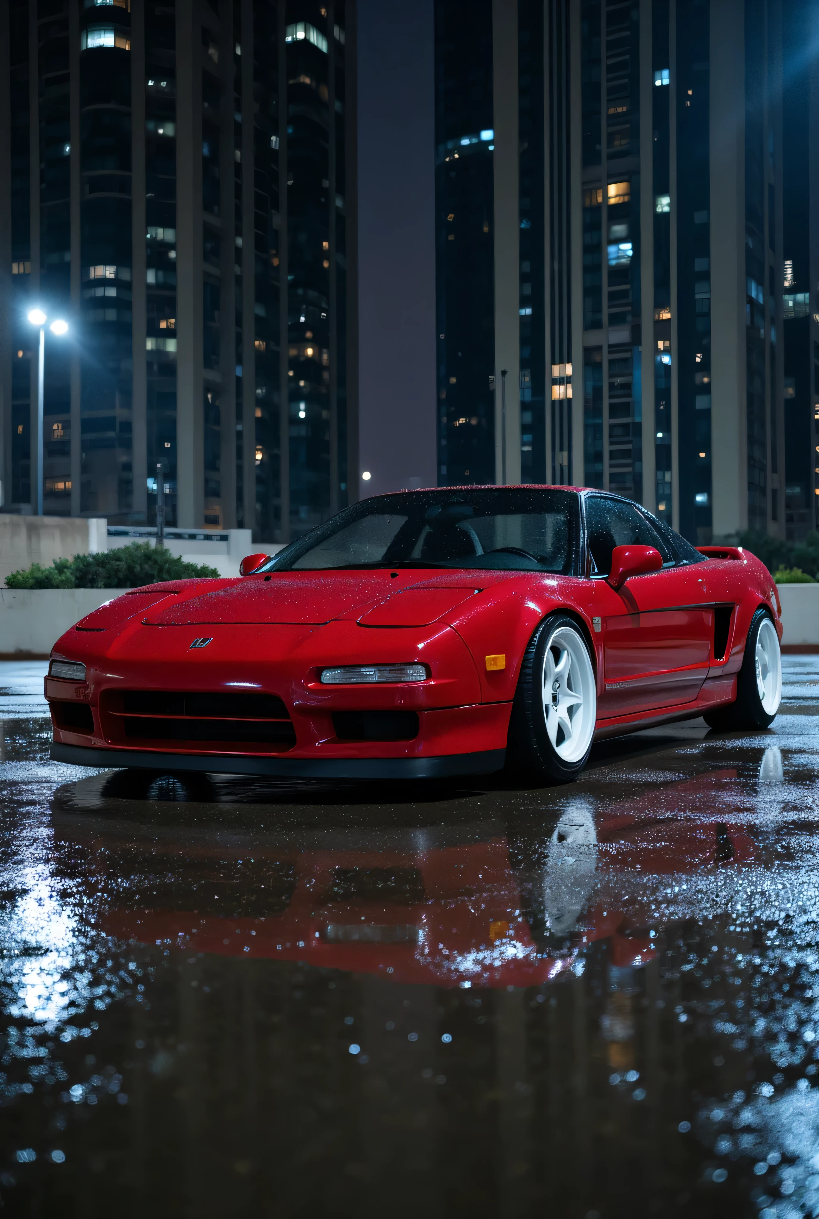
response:
M539 488L374 496L285 547L260 570L574 568L578 495Z

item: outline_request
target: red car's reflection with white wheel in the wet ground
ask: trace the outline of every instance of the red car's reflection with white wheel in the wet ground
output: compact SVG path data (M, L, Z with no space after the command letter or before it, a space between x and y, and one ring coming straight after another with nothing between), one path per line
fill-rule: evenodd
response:
M96 872L87 869L99 885L91 906L122 939L403 983L531 986L572 970L595 941L608 941L614 970L653 957L648 908L639 897L595 901L598 878L611 885L618 873L670 875L753 858L746 833L712 819L714 797L730 803L735 778L722 770L642 787L597 812L575 796L536 823L508 826L288 833L249 830L255 812L256 824L269 824L269 807L250 805L234 805L229 820L223 808L190 806L194 819L176 825L168 805L155 805L156 825L140 824L134 813L145 806L102 775L62 789L71 795L55 813L71 816L55 818L55 834L58 851L96 861ZM151 795L173 798L169 781ZM94 808L104 819L89 816ZM625 974L614 991L628 993Z

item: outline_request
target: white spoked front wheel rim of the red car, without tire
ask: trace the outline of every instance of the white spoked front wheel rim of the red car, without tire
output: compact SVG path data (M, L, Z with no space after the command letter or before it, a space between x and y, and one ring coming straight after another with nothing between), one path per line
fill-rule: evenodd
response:
M562 623L548 636L541 696L546 735L558 758L585 758L597 719L597 689L589 649L575 627Z

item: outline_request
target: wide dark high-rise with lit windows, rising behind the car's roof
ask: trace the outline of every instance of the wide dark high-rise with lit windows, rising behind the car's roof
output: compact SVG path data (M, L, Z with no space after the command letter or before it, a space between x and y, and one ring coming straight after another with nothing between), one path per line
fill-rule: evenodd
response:
M784 536L781 4L458 9L436 4L440 482Z

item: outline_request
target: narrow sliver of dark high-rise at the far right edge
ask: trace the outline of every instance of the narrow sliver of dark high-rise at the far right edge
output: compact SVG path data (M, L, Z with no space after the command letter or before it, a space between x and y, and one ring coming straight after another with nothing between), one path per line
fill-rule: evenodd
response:
M819 10L782 6L785 536L819 524ZM813 206L812 206L813 202Z

